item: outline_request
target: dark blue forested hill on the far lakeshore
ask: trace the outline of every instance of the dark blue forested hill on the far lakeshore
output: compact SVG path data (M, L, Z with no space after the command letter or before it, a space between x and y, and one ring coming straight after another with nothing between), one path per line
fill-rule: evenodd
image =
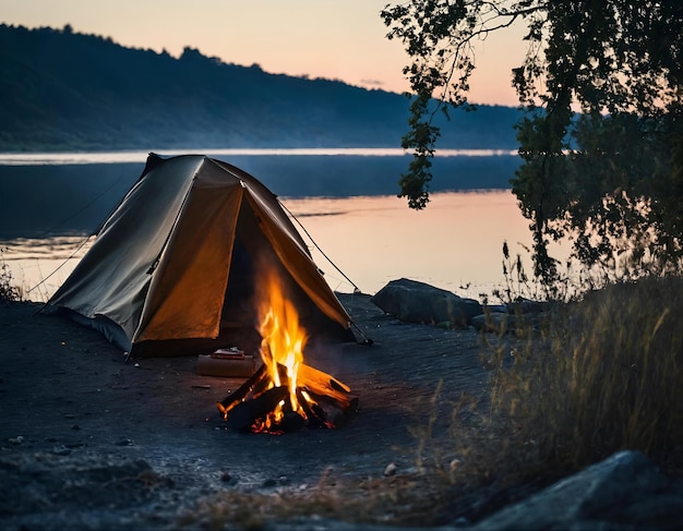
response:
M0 25L0 150L398 147L408 99L264 72L185 48ZM519 111L480 106L442 121L440 147L515 148Z

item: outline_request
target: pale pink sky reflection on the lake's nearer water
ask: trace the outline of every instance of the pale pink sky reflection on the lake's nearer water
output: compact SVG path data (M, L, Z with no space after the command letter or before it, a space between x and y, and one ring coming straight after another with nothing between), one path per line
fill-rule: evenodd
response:
M478 299L503 283L503 241L511 253L522 253L530 270L524 251L531 244L528 221L508 190L443 192L431 197L420 212L393 195L281 202L301 224L315 262L337 291L351 292L356 285L375 293L388 281L406 277ZM0 248L7 249L3 258L17 283L31 290L32 300L45 301L91 243L84 236L60 234L5 239Z

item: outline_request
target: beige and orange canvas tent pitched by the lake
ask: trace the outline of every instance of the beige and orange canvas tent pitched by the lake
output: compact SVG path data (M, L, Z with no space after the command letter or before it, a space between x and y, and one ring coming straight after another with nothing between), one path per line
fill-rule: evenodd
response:
M254 351L263 264L277 273L312 340L355 339L276 195L215 158L149 154L48 305L133 357Z

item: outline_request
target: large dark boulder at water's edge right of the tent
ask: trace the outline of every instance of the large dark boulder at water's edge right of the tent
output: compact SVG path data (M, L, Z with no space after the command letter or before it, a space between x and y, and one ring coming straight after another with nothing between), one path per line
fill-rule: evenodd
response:
M370 300L385 313L409 323L462 327L482 313L481 304L474 299L407 278L392 280Z

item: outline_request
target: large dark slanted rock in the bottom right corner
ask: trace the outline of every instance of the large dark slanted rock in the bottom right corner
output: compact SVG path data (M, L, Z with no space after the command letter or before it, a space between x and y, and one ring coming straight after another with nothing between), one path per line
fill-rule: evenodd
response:
M620 451L471 529L676 529L683 484L639 451Z

